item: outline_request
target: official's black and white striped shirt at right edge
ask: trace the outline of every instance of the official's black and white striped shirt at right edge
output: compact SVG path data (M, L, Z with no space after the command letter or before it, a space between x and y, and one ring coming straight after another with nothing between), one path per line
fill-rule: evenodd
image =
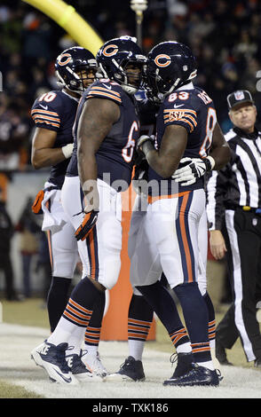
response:
M207 183L207 215L210 230L221 230L225 209L261 208L261 132L247 134L233 128L225 134L231 161L212 171Z

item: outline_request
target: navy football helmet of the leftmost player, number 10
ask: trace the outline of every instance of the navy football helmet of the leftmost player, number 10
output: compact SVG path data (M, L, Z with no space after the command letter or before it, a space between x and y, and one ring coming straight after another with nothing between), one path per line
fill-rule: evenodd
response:
M73 46L62 51L55 61L58 83L80 94L86 89L83 83L86 74L84 76L82 73L81 75L76 73L81 71L88 72L90 68L93 68L95 71L98 69L96 59L90 51L81 46Z

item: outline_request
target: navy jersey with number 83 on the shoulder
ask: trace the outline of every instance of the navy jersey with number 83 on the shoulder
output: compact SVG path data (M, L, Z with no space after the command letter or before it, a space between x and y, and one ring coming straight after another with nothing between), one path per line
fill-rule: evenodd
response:
M187 130L187 145L182 157L205 158L211 146L217 114L212 99L204 90L194 87L192 83L189 87L181 87L164 99L157 116L155 147L160 149L167 126L180 125ZM174 136L173 140L175 140ZM167 181L162 181L163 179L165 178L149 167L148 180L156 180L158 183L158 190L154 187L153 191L149 190L150 194L177 193L178 183L171 178ZM203 179L201 177L196 183L181 188L181 191L203 188Z

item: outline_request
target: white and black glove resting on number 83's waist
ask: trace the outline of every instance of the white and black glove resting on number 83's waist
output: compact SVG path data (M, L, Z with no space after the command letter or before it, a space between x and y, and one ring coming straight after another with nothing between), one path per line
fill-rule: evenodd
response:
M180 163L186 163L186 166L177 169L171 178L175 179L177 183L181 183L181 186L194 184L198 178L215 166L215 161L211 156L205 159L182 158Z

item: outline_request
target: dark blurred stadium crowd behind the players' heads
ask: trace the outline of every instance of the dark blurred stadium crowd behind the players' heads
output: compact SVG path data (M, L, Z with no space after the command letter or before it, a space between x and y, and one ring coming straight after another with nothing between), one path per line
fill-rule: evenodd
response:
M135 13L129 2L77 0L74 5L103 40L135 35ZM143 50L166 39L188 44L197 58L196 83L210 91L224 131L231 127L226 96L245 88L257 103L261 69L261 4L257 0L150 0L143 20ZM128 15L128 19L126 16ZM0 169L30 169L29 109L36 96L56 88L54 60L74 41L51 19L20 0L1 2ZM259 122L259 121L258 121ZM19 162L7 154L19 152Z

